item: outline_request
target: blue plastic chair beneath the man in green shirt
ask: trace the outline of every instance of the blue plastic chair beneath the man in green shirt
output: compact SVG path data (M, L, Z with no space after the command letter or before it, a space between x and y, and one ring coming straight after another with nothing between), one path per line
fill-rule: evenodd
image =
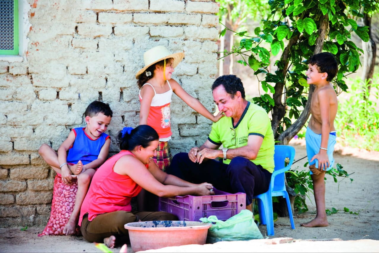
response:
M287 157L289 159L289 163L285 166L285 159ZM291 228L295 229L290 197L288 196L288 192L285 187L285 171L291 168L294 158L295 149L292 146L275 145L275 168L271 176L268 191L253 197L257 199L260 223L266 225L267 234L269 236L274 236L273 196L282 196L286 199Z

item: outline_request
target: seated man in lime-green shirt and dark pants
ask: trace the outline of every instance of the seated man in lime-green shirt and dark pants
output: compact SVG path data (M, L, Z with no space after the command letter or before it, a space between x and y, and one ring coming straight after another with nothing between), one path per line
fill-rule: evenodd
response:
M268 190L274 171L271 121L262 107L245 99L241 79L235 75L216 79L212 91L225 116L212 124L202 146L176 154L167 173L194 183L208 182L224 192L244 192L246 209L252 211L253 196Z

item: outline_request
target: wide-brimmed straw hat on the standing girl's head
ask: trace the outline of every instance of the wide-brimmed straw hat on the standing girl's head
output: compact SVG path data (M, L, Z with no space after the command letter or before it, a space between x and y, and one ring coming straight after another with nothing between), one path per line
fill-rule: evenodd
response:
M139 78L139 75L141 75L143 72L146 71L147 68L149 68L151 65L157 63L158 61L173 58L174 62L172 63L172 67L176 67L180 61L184 58L184 53L171 53L166 47L164 46L157 46L153 47L152 49L147 50L143 54L143 58L145 61L145 66L137 72L136 79Z

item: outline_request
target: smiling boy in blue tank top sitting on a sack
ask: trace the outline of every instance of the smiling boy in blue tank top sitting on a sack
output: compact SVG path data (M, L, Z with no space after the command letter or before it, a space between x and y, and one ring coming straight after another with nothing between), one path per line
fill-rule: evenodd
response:
M111 140L105 131L111 122L112 115L109 105L94 101L88 105L85 112L86 127L72 129L58 148L58 152L47 144L42 144L38 150L40 156L61 176L65 184L69 184L72 178L78 179L74 209L64 226L63 234L75 233L80 207L88 191L89 183L97 168L108 157Z

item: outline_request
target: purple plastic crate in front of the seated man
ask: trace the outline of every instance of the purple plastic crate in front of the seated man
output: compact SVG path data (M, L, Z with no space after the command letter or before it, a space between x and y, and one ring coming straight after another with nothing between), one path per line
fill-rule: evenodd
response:
M227 193L214 189L210 196L175 196L159 198L159 211L178 216L179 220L198 222L201 217L216 215L219 220L227 220L246 209L246 193Z

